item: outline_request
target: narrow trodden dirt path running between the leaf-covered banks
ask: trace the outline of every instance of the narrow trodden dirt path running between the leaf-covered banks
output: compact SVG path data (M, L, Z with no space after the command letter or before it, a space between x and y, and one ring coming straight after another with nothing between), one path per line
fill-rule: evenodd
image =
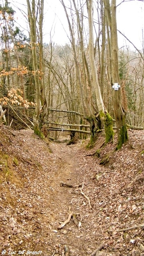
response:
M52 145L51 145L52 146ZM53 145L54 146L54 145ZM78 205L76 201L79 199L77 196L78 189L60 186L60 182L78 184L78 168L79 163L76 159L78 150L75 146L66 146L66 144L57 144L57 153L55 164L57 165L56 172L50 177L51 189L53 190L54 204L53 209L53 231L51 244L59 247L59 253L66 244L69 247L72 255L84 255L81 250L82 244L78 243L78 237L81 230L75 226L72 220L62 230L58 230L59 221L65 221L71 212L78 212ZM57 154L60 157L57 158ZM84 242L83 242L84 243ZM60 248L61 247L61 248ZM51 254L48 254L51 255Z

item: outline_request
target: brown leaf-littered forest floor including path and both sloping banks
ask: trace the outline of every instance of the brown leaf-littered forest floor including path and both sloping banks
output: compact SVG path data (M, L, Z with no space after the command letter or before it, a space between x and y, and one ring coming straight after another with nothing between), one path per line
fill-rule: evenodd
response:
M92 149L88 141L48 144L0 126L0 253L144 256L143 227L118 232L144 224L144 131L129 131L119 151L115 136L92 155L103 141ZM79 227L71 218L58 229L70 212Z

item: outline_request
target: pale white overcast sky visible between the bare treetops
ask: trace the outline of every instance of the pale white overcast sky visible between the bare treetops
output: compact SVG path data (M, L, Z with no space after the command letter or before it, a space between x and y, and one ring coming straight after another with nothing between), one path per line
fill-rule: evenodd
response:
M26 0L9 0L14 6L19 6L24 10L23 4L26 5ZM64 3L69 4L69 0L64 0ZM117 5L121 3L117 1ZM14 7L14 10L16 8ZM26 9L25 9L26 11ZM20 12L16 14L17 23L23 28L26 28L25 19ZM132 41L132 43L138 48L142 49L142 29L144 27L144 2L140 0L131 0L121 3L117 7L117 28ZM59 0L44 0L44 23L43 34L44 42L49 43L50 39L56 44L69 43L69 29L63 6ZM130 43L118 32L118 47L121 48L124 45L130 45ZM134 49L132 46L130 46Z

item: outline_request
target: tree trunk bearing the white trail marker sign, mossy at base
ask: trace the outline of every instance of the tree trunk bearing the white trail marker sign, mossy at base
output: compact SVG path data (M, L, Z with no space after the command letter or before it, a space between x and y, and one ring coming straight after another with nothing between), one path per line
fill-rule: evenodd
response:
M104 0L104 5L106 8L106 19L107 25L110 31L109 40L109 52L111 56L111 82L112 85L115 83L120 84L119 68L118 68L118 36L117 36L117 22L116 22L116 0L112 0L111 8L109 0ZM111 10L111 11L110 11ZM107 31L109 33L109 31ZM118 133L118 144L117 148L121 146L128 140L127 126L125 122L126 111L122 106L121 100L121 88L115 90L112 88L112 102L114 108L115 121Z

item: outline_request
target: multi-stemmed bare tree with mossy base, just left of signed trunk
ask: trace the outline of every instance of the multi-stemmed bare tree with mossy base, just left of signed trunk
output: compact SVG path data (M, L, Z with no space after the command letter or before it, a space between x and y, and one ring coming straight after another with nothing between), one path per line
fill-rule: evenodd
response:
M80 46L81 46L82 67L83 67L82 73L84 75L83 87L82 87L82 82L81 82L80 73L79 73L78 57L77 57L76 47L75 47L75 35L73 34L69 15L67 13L66 6L65 6L63 0L61 0L61 3L63 5L67 20L69 23L70 35L72 38L71 44L72 44L72 48L73 48L73 52L74 52L75 66L76 66L76 71L77 71L78 83L80 86L80 95L81 95L81 100L82 100L82 105L83 105L83 110L84 110L84 117L90 123L91 140L90 140L89 145L92 145L94 143L94 141L97 137L97 134L98 134L96 131L98 130L98 128L101 127L101 123L104 125L104 128L105 128L105 133L106 133L106 137L107 137L106 143L107 143L113 137L112 118L107 113L107 111L105 110L105 107L104 107L104 102L103 102L103 99L101 96L101 89L98 84L97 70L96 70L96 66L95 66L94 42L93 42L93 15L92 15L93 0L86 1L88 16L89 16L89 18L88 18L89 19L89 62L90 62L92 77L90 77L89 65L86 60L86 55L84 52L85 49L84 49L84 39L83 39L83 17L81 18L81 23L80 23L78 9L76 7L75 0L73 0L76 17L77 17L77 23L78 23L78 26L77 26L78 38L79 38ZM83 15L83 14L81 13L81 15ZM95 92L94 93L95 95L92 96L93 92ZM95 114L95 112L96 112L96 114ZM107 129L107 127L109 127L109 128Z

